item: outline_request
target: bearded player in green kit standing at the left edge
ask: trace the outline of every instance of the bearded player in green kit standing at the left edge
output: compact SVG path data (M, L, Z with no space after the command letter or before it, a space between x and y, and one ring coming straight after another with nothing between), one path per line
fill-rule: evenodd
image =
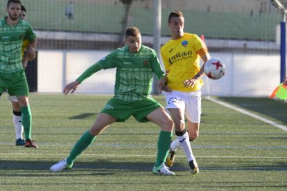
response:
M19 19L21 1L9 0L6 12L8 17L0 20L0 95L7 89L10 96L17 96L26 138L25 147L37 148L31 139L32 114L21 53L23 39L28 39L29 44L35 47L36 35L31 24Z

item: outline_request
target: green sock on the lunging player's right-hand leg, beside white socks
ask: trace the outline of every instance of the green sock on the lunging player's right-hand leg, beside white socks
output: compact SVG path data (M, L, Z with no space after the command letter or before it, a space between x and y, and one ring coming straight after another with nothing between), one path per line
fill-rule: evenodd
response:
M156 167L162 165L166 161L172 137L173 133L168 131L160 131L159 140L157 141L157 161L155 162Z

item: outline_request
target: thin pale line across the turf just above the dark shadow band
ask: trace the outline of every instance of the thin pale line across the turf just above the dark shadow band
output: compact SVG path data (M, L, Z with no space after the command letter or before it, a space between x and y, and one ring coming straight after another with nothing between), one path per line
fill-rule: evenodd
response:
M46 155L46 153L0 153L2 156L4 154L11 156L41 156ZM65 154L49 154L50 156L64 156ZM66 154L68 155L68 154ZM81 154L81 156L102 156L102 157L109 157L109 158L155 158L156 155L146 155L146 154ZM186 158L184 155L177 155L177 158ZM278 158L278 159L287 159L287 156L196 156L196 158Z

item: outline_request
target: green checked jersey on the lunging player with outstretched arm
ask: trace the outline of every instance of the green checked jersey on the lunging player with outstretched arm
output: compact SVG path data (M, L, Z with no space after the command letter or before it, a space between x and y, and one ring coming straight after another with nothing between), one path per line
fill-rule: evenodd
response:
M100 69L112 68L116 68L115 98L125 102L150 98L153 73L157 78L164 77L164 71L155 51L142 45L138 53L130 53L128 46L113 51L89 67L77 81L82 82Z

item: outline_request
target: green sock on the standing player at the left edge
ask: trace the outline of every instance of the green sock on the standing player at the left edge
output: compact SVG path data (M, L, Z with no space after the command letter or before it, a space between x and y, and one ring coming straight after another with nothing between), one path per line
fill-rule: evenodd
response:
M30 106L21 107L22 113L22 125L24 127L25 138L31 139L31 130L32 130L32 113Z

